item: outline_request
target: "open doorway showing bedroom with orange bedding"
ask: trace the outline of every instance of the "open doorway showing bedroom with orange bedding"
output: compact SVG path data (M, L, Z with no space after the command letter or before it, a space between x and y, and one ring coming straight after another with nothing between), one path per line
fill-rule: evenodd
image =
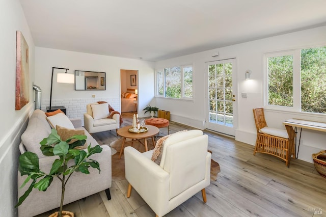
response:
M121 113L138 113L138 70L120 69Z

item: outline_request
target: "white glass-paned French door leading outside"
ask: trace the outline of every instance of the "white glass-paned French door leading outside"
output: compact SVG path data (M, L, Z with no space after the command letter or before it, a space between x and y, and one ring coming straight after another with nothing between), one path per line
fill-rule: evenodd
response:
M236 60L206 63L207 129L235 135L237 127Z

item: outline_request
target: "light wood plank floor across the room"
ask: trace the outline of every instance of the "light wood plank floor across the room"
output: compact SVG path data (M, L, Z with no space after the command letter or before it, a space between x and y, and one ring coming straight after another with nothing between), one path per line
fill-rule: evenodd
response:
M131 124L131 115L123 113L124 125ZM191 127L170 122L170 133L184 129ZM160 133L167 134L167 128L160 128ZM221 167L218 180L206 188L207 203L199 192L165 216L326 216L326 179L313 164L292 159L287 168L279 158L261 153L254 156L254 146L204 133L209 135L212 159ZM99 144L119 139L115 130L94 133L93 137ZM76 217L155 216L134 190L126 198L127 186L125 179L113 181L110 201L100 192L64 208Z

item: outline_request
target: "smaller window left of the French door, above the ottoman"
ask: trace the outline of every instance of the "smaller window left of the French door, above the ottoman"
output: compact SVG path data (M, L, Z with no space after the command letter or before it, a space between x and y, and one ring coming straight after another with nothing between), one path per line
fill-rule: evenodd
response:
M193 98L193 67L176 66L156 72L157 96L175 99Z

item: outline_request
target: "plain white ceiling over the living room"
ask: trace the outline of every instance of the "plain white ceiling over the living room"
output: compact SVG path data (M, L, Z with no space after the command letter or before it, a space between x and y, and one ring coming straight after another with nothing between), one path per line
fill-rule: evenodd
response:
M159 61L326 25L325 0L20 0L38 47Z

